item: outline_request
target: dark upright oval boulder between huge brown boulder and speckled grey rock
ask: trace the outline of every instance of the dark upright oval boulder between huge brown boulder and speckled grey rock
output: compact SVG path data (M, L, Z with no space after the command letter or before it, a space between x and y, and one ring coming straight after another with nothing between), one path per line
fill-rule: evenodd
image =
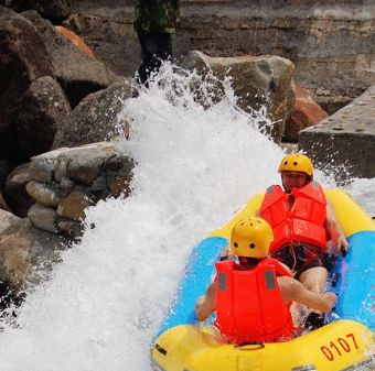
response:
M71 112L71 105L56 80L43 76L32 81L17 118L18 142L25 156L50 151L56 131Z

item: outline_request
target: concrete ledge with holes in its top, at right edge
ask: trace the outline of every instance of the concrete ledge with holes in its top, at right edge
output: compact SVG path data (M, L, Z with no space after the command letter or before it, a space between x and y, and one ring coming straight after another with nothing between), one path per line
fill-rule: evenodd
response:
M318 168L344 166L339 179L375 177L375 86L319 124L300 131L299 149Z

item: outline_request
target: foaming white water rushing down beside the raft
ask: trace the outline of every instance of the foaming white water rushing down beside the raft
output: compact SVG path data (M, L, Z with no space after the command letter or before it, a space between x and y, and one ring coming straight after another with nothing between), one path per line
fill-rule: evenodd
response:
M192 245L278 182L282 151L236 109L231 89L203 110L184 90L189 78L174 79L179 96L167 81L126 101L132 195L87 211L96 228L29 294L19 327L0 334L1 371L149 371L152 336ZM318 179L330 184L319 172ZM350 187L373 212L374 183Z

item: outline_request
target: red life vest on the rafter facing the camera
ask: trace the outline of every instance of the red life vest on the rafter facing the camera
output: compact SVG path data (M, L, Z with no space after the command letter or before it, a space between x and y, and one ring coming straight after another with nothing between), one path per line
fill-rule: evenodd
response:
M291 195L294 203L289 209L290 195L280 186L271 186L261 204L260 216L269 222L275 237L270 252L300 242L326 249L326 200L322 187L310 182L302 188L293 188Z

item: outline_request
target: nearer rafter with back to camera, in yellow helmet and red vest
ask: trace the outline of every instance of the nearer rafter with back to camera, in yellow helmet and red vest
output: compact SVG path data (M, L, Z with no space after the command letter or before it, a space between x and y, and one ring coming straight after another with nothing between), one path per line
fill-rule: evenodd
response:
M232 230L229 249L238 262L216 262L216 277L195 304L199 320L216 313L215 327L233 343L288 340L293 335L292 301L328 312L333 293L313 293L291 277L277 260L267 257L274 234L258 217L239 221Z

